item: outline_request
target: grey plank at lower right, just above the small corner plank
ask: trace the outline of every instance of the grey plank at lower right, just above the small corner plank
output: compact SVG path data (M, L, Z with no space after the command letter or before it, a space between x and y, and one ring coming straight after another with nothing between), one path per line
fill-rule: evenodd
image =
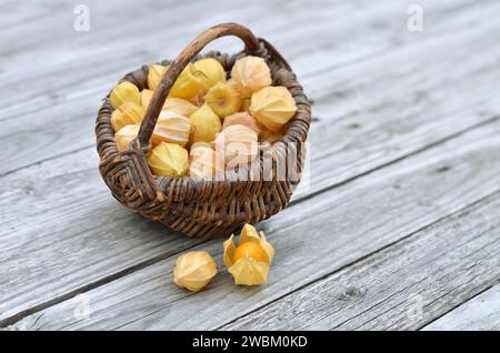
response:
M222 329L419 329L498 283L499 234L500 193L496 193ZM491 305L494 293L490 294ZM498 301L498 291L496 294ZM488 326L494 320L498 325L498 304L487 309L486 302L472 302L482 309L473 303L468 309L460 306L454 316L441 321L443 326L451 329L454 323L463 330L474 319L478 325ZM470 321L464 319L467 314L471 314ZM439 322L434 327L441 327Z

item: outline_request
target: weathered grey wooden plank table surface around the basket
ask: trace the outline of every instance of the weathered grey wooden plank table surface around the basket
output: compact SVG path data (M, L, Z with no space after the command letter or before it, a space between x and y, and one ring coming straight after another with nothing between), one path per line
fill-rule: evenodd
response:
M89 31L80 1L0 2L0 327L500 330L500 2L419 0L421 31L413 2L86 1ZM223 238L142 219L97 169L118 79L228 21L313 100L309 180L258 224L259 288L232 284ZM219 264L196 294L172 283L188 250Z

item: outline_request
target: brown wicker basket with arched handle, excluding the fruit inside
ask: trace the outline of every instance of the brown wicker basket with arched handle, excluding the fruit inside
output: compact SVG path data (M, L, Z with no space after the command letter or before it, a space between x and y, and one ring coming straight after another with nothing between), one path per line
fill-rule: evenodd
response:
M233 56L219 52L198 56L210 41L224 36L239 37L246 44L244 50ZM296 115L289 122L287 134L270 149L261 151L259 158L243 170L248 174L260 171L259 175L262 178L241 180L241 169L238 172L226 171L222 180L153 175L146 159L150 150L150 137L170 88L183 68L192 60L210 57L219 60L228 72L236 59L244 56L263 58L271 70L273 84L288 88L298 107ZM170 61L162 62L168 63ZM142 90L147 88L148 70L149 67L143 65L127 74L122 81L127 80ZM219 24L206 30L171 62L168 73L154 91L139 135L130 143L128 151L119 152L117 149L111 112L111 104L106 98L97 117L96 135L99 170L113 196L143 216L190 236L229 235L244 223L253 224L268 219L287 206L300 180L303 142L311 121L310 103L281 54L269 42L256 38L249 29L237 23ZM298 147L294 153L299 175L294 180L279 178L277 170L277 164L290 151L290 142ZM271 170L263 165L271 165Z

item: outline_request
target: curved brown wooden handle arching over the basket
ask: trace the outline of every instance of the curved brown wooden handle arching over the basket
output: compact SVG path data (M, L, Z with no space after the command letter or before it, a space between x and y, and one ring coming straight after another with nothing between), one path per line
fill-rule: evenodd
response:
M169 70L161 79L158 88L154 90L151 98L151 103L146 111L141 128L139 129L138 137L141 148L149 149L151 134L154 130L154 125L157 124L161 108L169 95L170 89L177 81L182 70L184 70L191 59L194 58L208 43L224 36L239 37L244 42L246 52L257 52L260 48L259 40L253 36L253 33L248 28L238 23L218 24L209 28L194 38L176 58L176 60L173 60L169 67Z

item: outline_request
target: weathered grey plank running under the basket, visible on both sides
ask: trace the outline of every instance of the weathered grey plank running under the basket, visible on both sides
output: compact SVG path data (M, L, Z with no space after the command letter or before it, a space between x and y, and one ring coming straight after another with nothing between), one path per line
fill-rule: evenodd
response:
M472 32L468 40L478 43L481 38L488 36ZM414 77L416 82L407 88L407 94L386 98L392 104L370 110L359 105L359 98L351 97L351 104L366 112L324 124L321 129L324 134L313 128L312 149L320 152L311 153L311 188L300 192L299 198L446 140L490 120L500 110L500 102L483 100L494 97L494 82L500 78L494 52L478 54L468 61L470 56L468 49L462 48L463 42L450 40L446 41L446 48L443 43L437 43L438 48L430 47L436 57L426 58L430 63L446 59L451 57L449 53L454 48L456 58L461 58L464 64L453 78L429 87L422 78L430 79L437 71L422 68L427 73ZM396 58L380 58L372 64L352 67L346 70L344 78L356 78L362 83L360 90L364 87L368 94L368 85L374 83L362 78L380 68L408 62L408 58L416 54L416 51L401 52ZM386 85L402 81L401 75L408 78L407 73L401 70L387 75ZM380 78L372 75L374 79ZM462 91L469 92L470 85L474 87L478 97L469 94L446 105L438 104L443 97L450 99ZM358 128L350 128L354 123ZM119 208L100 181L96 165L94 152L84 150L3 178L1 202L8 206L2 208L0 214L4 249L0 262L9 270L1 276L6 293L2 293L6 301L0 307L1 319L53 297L71 295L89 283L116 276L121 271L197 243L178 234L166 236L171 232ZM47 255L47 249L58 256Z

